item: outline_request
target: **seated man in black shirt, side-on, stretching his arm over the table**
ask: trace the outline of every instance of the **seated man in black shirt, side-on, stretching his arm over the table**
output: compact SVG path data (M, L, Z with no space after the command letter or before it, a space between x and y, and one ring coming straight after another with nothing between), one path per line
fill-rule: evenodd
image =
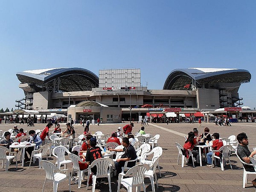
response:
M122 172L122 167L125 166L125 161L135 160L137 158L136 151L134 147L130 144L127 137L122 138L122 145L124 146L124 148L122 149L109 149L109 151L125 152L124 154L122 154L121 158L117 159L115 162L117 175ZM127 164L128 167L133 167L135 165L136 161L128 162Z

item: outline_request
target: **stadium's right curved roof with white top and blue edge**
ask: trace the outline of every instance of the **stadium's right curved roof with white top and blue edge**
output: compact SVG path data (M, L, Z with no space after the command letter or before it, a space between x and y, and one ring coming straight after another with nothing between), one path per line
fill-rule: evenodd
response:
M166 90L187 90L186 85L194 87L218 87L220 83L247 83L251 74L240 69L188 68L173 70L164 83ZM192 88L192 86L190 86Z

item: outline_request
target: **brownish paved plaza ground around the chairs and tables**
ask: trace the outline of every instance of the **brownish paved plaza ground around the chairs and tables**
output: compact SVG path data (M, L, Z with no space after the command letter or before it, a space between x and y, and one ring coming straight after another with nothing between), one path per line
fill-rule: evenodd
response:
M0 130L7 131L13 128L14 125L18 125L18 128L24 130L31 129L43 129L46 124L35 124L35 127L27 127L25 124L0 124ZM90 125L90 132L102 131L103 134L111 134L112 131L116 131L117 128L123 127L125 124L102 124L100 126ZM140 130L140 123L134 122L133 133ZM65 129L65 124L61 124L61 129ZM81 134L84 130L80 124L74 125L76 133ZM193 168L191 164L185 164L181 167L181 164L177 165L177 147L175 142L184 144L184 135L193 128L198 127L198 123L170 123L167 124L149 124L145 126L145 132L155 135L160 134L158 144L163 148L163 155L160 158L159 165L162 177L158 177L159 188L158 192L255 192L255 188L252 183L246 184L246 188L243 189L243 168L239 159L233 153L231 155L231 163L233 170L230 169L229 164L225 166L224 171L221 171L220 166L215 168L207 167L205 162L203 166L196 166ZM256 123L241 122L232 123L232 126L216 126L215 123L202 123L202 127L198 128L199 134L203 133L205 127L210 129L210 134L218 132L220 137L229 137L230 135L237 135L241 132L245 132L249 140L249 149L252 151L253 147L256 147ZM54 125L52 127L52 130ZM19 155L18 155L19 158ZM19 159L18 159L19 160ZM49 160L55 163L55 158L50 157ZM180 161L181 163L181 161ZM71 164L67 166L71 170ZM18 163L18 169L15 169L15 165L9 166L9 172L5 172L5 169L0 168L0 191L15 191L15 192L31 192L41 191L45 179L45 172L43 169L38 168L38 161L35 165L29 169L29 162L25 163L24 169L21 168L21 163ZM255 176L249 175L248 182L255 179ZM81 184L81 188L78 189L78 185L71 181L71 190L73 192L80 192L86 190L87 180L84 180ZM146 191L152 191L150 180L145 179ZM52 183L47 183L45 187L46 192L52 191ZM111 178L112 191L117 191L117 177ZM60 183L58 191L68 191L68 182ZM88 191L92 190L92 186ZM101 187L96 188L96 192L108 192L108 180L103 180ZM122 192L127 190L122 187Z

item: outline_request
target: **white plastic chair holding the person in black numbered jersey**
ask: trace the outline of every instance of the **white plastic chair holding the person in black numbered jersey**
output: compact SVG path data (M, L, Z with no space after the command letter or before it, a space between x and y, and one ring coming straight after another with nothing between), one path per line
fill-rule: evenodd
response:
M97 172L96 172L96 175L93 175L92 192L95 191L96 178L100 178L100 177L108 177L109 192L111 192L110 174L111 174L111 168L114 166L113 160L111 158L99 158L99 159L94 160L89 166L87 181L89 181L91 168L93 166L96 166ZM86 190L88 190L88 187L89 187L89 182L87 182Z

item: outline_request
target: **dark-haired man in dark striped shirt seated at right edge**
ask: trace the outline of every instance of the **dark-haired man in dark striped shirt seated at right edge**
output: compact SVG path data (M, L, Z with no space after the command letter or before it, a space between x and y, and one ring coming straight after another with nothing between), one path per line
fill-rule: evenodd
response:
M247 135L245 133L240 133L237 135L236 139L238 140L238 143L239 143L239 145L237 146L237 155L245 163L251 163L249 157L253 157L253 155L256 154L256 151L250 152L250 150L248 149L249 142L248 142ZM244 164L243 166L247 172L255 172L253 166L244 165ZM256 187L256 179L254 179L252 183L253 183L253 186Z

